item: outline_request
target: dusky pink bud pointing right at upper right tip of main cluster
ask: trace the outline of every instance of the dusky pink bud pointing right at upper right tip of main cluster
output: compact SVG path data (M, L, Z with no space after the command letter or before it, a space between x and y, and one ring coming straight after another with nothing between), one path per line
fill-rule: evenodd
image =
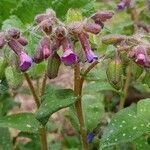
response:
M114 13L112 11L98 11L91 18L95 21L95 23L101 25L102 22L105 22L107 19L111 19Z

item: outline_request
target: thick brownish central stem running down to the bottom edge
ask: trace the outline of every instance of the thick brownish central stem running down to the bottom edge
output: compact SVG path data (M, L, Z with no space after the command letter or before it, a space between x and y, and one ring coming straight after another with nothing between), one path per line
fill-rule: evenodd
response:
M84 118L83 118L83 112L82 112L82 102L81 102L81 77L80 77L80 64L77 63L74 67L74 92L75 95L78 97L77 102L75 103L75 108L77 112L77 117L79 119L80 124L80 134L83 144L83 149L88 150L88 142L86 139L86 130L84 126Z

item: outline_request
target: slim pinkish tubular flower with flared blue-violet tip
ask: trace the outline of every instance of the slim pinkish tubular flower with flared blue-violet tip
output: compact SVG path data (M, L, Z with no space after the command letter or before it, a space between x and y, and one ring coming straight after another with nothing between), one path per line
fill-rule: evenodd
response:
M90 46L90 43L88 41L88 37L87 37L86 33L78 34L78 38L79 38L79 41L80 41L82 48L85 52L87 61L89 63L92 63L94 60L98 60L98 56L96 56L94 54L94 52L91 50L91 46Z

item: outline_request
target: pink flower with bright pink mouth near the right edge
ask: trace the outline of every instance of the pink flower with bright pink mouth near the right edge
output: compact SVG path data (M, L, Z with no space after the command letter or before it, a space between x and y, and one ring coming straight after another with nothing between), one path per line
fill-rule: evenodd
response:
M139 65L145 66L147 63L146 49L143 45L134 47L129 53L129 57L134 59L134 61Z

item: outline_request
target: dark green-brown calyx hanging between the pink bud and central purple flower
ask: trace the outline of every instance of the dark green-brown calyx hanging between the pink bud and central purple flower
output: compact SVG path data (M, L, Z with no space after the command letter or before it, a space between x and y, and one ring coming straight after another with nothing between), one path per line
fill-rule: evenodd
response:
M61 60L57 52L55 52L51 57L49 57L47 65L47 76L50 79L54 79L57 77L60 64Z

